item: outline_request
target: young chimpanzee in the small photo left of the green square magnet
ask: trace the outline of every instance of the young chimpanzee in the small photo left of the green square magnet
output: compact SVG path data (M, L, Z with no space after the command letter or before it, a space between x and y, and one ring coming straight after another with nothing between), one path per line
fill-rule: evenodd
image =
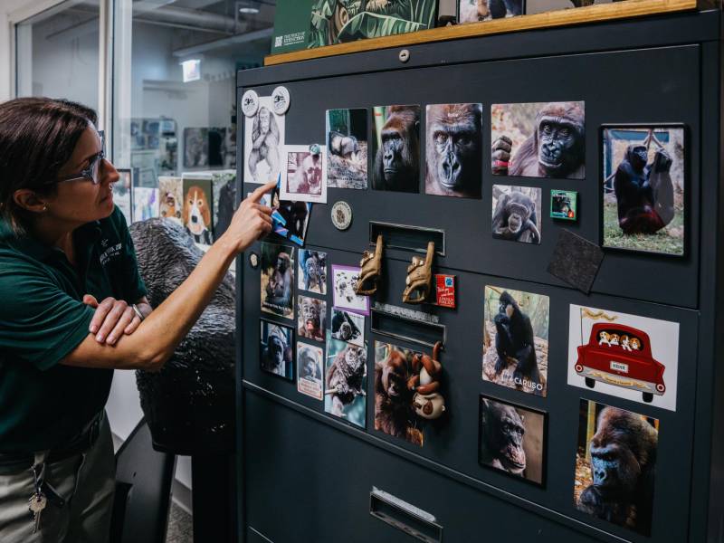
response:
M502 193L492 214L492 237L514 242L540 243L536 204L519 191Z

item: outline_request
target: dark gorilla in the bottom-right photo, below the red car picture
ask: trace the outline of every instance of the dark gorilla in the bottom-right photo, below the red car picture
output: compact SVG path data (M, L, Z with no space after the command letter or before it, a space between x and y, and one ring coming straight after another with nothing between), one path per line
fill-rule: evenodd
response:
M658 432L640 415L605 407L591 438L593 483L576 508L649 535L658 443Z

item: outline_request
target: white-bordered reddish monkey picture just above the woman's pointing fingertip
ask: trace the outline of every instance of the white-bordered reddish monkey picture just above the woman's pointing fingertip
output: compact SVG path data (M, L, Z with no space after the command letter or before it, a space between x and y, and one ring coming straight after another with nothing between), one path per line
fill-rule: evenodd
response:
M327 148L285 145L281 156L281 200L327 204Z

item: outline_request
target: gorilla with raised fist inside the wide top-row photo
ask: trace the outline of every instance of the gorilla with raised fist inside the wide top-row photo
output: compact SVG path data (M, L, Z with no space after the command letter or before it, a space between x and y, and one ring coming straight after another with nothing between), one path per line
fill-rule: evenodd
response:
M517 105L505 107L513 110ZM583 179L586 177L585 136L583 102L545 104L538 110L532 134L515 152L509 136L500 134L495 138L492 173L496 176Z

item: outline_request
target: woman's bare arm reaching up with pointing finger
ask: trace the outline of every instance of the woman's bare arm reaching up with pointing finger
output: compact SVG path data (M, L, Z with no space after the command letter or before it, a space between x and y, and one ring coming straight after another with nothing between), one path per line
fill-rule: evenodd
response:
M235 256L271 231L271 208L258 202L275 185L272 182L260 186L243 201L226 233L206 252L188 279L137 330L121 335L115 345L100 343L89 334L61 363L119 369L162 367L205 310Z

